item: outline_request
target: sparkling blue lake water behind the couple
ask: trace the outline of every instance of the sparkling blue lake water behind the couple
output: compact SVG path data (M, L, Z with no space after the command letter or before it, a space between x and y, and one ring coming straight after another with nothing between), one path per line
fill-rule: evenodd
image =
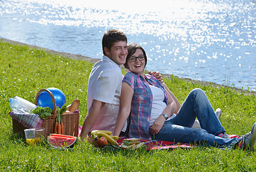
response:
M120 29L148 54L147 70L256 90L256 1L0 0L0 37L101 58Z

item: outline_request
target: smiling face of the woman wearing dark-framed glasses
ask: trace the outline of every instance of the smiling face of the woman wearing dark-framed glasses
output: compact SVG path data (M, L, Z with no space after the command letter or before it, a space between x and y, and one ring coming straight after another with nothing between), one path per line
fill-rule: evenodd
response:
M136 57L143 57L143 51L141 49L136 49L136 52L131 55L130 58L136 58ZM145 69L145 59L139 60L136 58L135 62L131 62L129 59L127 61L128 69L131 70L131 72L137 73L141 76L144 75L144 69Z

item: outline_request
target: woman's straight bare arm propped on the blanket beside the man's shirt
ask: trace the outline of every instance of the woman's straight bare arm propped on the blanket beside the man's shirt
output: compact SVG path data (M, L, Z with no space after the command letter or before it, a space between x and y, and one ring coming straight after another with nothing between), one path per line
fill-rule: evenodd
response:
M120 109L118 120L115 123L115 130L113 135L120 135L123 126L125 125L125 121L131 112L131 100L133 98L133 88L128 85L127 82L123 82L122 90L120 95Z

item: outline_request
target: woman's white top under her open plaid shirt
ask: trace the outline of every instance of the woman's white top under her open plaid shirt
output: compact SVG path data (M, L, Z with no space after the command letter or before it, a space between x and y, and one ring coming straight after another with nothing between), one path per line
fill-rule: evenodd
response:
M149 85L149 87L151 88L151 92L153 95L152 108L151 108L151 120L149 121L149 123L150 125L153 125L153 122L155 122L158 116L161 115L161 113L163 113L163 110L166 108L166 103L163 102L164 100L163 90L153 85ZM171 117L168 118L167 120L171 120L174 117L176 117L175 114L171 115Z

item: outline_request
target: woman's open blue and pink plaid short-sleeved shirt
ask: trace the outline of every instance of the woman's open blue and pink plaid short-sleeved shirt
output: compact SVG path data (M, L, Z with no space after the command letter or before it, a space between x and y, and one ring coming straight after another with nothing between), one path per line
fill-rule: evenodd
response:
M161 83L151 75L146 75L146 80L155 87L163 90L165 99L168 102L166 92ZM133 98L131 102L131 124L129 129L129 137L151 139L149 134L151 108L152 108L152 92L148 83L141 75L131 71L127 72L123 77L123 82L128 83L133 88Z

